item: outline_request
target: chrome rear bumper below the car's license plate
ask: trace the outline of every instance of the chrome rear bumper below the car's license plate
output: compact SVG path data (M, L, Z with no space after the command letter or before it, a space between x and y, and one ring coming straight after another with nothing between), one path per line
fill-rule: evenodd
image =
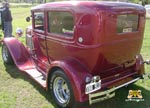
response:
M121 87L124 87L124 86L127 86L133 82L136 82L138 81L139 79L141 79L141 77L138 77L134 80L131 80L125 84L122 84L120 86L117 86L117 87L113 87L112 89L109 89L109 90L106 90L106 91L102 91L102 92L99 92L99 93L93 93L93 94L89 94L89 104L93 104L93 103L97 103L97 102L100 102L100 101L103 101L103 100L106 100L106 99L110 99L112 97L115 96L115 90L121 88Z

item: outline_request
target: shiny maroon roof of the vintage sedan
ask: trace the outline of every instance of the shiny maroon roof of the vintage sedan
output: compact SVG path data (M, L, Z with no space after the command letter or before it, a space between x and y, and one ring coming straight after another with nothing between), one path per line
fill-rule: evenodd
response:
M39 10L39 9L59 9L59 8L65 8L65 9L84 9L86 8L92 8L94 9L111 9L112 7L126 7L130 6L132 8L142 8L140 5L132 4L132 3L125 3L125 2L110 2L110 1L61 1L61 2L50 2L38 5L32 10Z

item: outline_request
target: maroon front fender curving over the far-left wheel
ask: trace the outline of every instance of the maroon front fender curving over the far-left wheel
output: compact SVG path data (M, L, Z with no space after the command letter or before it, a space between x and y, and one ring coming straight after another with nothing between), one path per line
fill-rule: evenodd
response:
M33 66L28 50L18 39L14 37L4 38L3 42L7 46L14 63L20 70Z

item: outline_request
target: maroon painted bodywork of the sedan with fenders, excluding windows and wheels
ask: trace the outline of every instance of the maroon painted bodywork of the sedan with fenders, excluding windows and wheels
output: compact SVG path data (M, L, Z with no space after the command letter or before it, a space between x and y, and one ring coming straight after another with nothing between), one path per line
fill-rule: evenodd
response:
M136 58L140 54L145 26L142 6L121 2L70 1L42 4L31 10L32 15L39 11L44 12L44 31L28 28L32 31L34 49L27 50L13 38L4 41L21 70L34 66L31 59L47 78L55 68L61 68L73 85L78 102L88 100L88 95L85 95L87 76L99 75L104 90L126 83L144 72L144 66L137 63L142 58ZM74 16L73 37L48 33L47 12L52 11L67 11ZM138 30L118 34L117 15L126 14L139 16ZM22 66L23 62L25 65Z

